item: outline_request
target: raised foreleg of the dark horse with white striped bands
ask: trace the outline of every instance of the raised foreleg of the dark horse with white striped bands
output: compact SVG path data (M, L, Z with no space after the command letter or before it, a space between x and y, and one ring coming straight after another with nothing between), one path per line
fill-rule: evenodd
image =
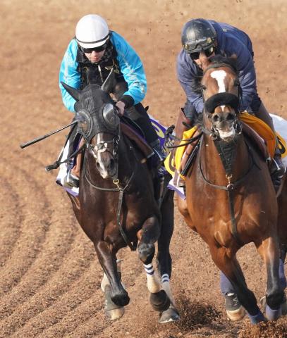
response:
M138 232L138 253L140 260L144 263L145 272L147 274L147 289L150 292L150 303L155 311L166 311L169 308L169 297L166 292L161 289L159 278L154 272L152 259L154 258L154 243L159 238L159 221L155 216L147 218L142 225L142 229Z

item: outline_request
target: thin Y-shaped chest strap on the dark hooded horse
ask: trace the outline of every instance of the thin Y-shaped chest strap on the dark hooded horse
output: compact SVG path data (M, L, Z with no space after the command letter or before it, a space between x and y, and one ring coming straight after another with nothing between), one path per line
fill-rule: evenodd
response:
M92 152L92 156L94 156ZM138 161L135 161L136 165L133 170L133 173L130 175L130 178L128 179L128 182L126 183L125 187L121 187L120 182L118 178L116 180L113 180L113 183L116 185L116 188L103 188L103 187L98 187L97 185L93 184L90 180L89 177L87 177L87 170L86 170L86 158L84 156L84 161L83 161L83 172L84 172L84 177L87 180L87 182L90 184L91 187L97 190L101 190L103 192L119 192L118 195L118 207L116 211L116 224L118 225L118 230L121 233L121 237L123 237L123 240L125 241L126 245L130 248L131 251L135 251L138 246L138 242L130 242L128 239L128 236L126 235L126 232L123 230L123 226L121 225L121 207L123 205L123 193L126 192L126 189L128 189L128 186L130 185L130 182L132 182L133 177L135 176L135 172L138 168Z

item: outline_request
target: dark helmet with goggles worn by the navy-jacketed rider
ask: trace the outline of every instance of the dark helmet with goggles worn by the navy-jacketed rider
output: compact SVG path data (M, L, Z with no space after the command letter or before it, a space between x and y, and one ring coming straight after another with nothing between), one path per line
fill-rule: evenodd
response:
M181 32L181 43L186 53L198 53L214 46L216 31L209 21L193 19L185 23Z

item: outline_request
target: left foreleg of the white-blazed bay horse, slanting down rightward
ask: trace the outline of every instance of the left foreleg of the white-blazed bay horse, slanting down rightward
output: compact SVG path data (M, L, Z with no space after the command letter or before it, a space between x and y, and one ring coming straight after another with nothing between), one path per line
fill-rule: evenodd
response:
M240 304L248 311L248 316L252 324L259 323L264 320L264 315L257 306L257 301L253 292L248 289L245 279L240 268L236 256L228 255L228 251L224 247L218 247L215 244L209 245L212 259L216 266L226 275L233 285Z

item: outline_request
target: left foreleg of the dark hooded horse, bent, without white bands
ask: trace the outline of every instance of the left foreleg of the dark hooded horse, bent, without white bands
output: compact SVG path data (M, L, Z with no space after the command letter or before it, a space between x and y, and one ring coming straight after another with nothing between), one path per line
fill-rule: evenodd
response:
M109 281L109 287L111 288L111 300L117 306L128 305L130 298L128 296L128 292L126 292L123 288L121 278L118 275L116 254L111 251L109 244L104 241L94 242L94 248L97 251L99 263L102 265L106 278Z

